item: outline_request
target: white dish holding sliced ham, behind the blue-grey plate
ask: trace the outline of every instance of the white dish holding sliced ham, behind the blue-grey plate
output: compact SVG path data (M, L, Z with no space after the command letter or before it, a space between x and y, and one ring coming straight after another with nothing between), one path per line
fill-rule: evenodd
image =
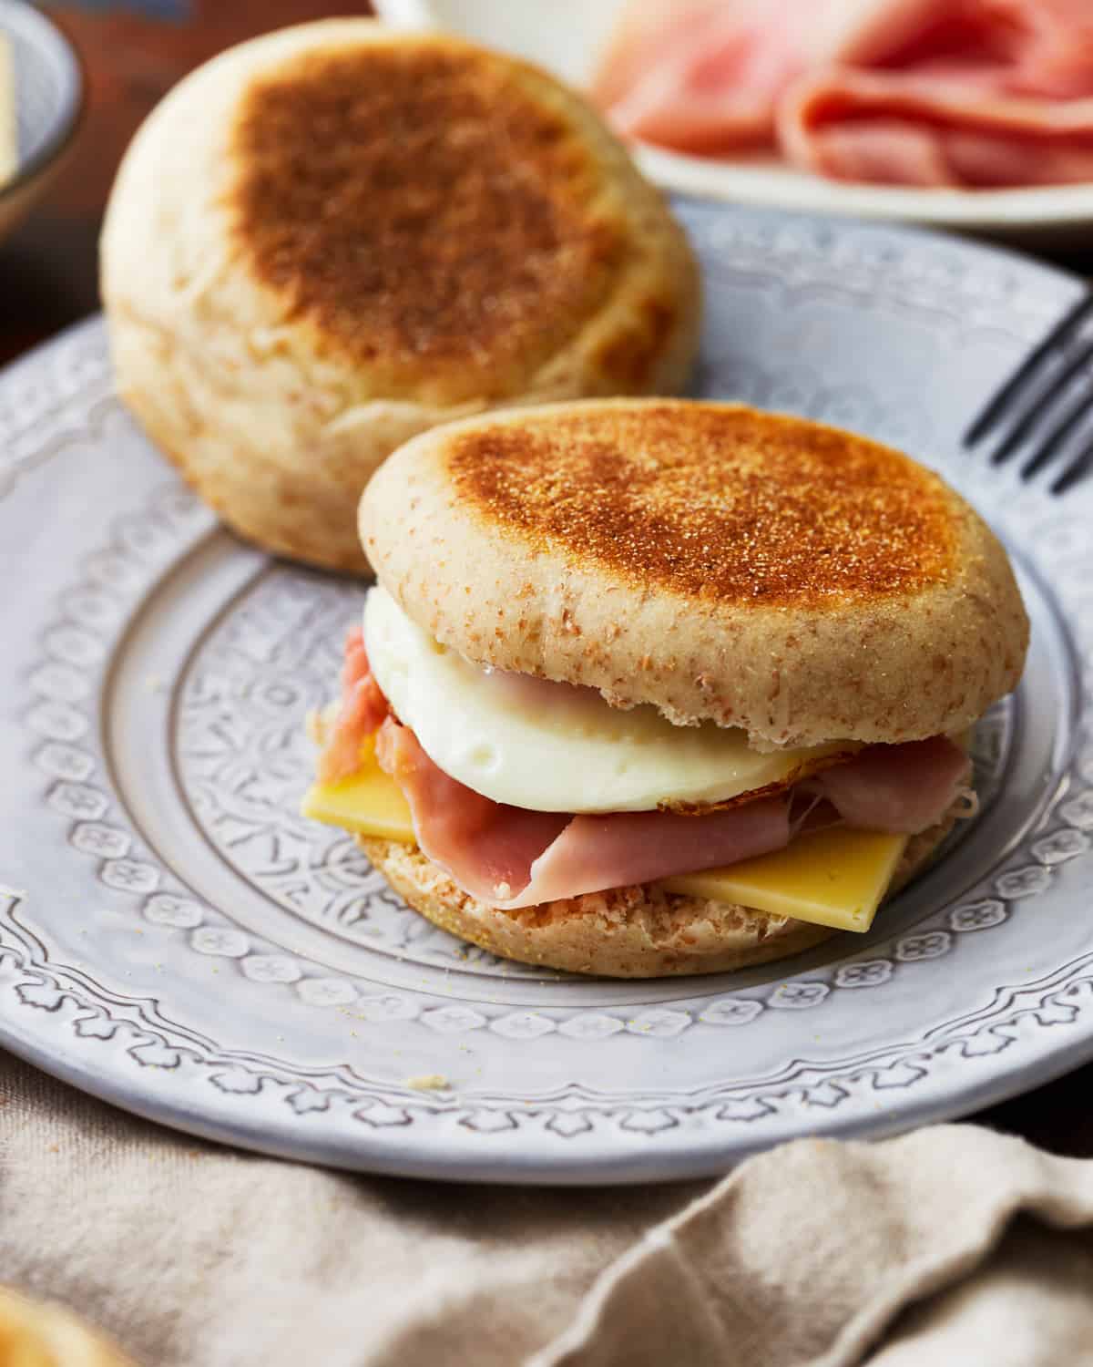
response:
M624 0L373 0L402 27L440 27L587 83ZM627 0L633 3L633 0ZM857 219L956 228L1040 246L1088 243L1093 185L1016 190L914 190L825 180L769 159L717 160L635 145L642 170L682 194Z

